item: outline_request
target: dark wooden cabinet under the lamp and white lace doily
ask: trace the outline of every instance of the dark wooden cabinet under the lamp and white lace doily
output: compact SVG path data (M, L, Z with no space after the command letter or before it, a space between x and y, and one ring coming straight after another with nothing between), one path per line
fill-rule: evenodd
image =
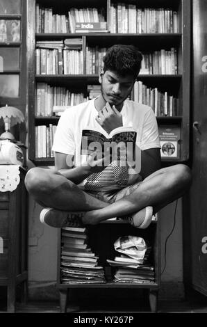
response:
M26 301L27 290L27 193L26 171L19 168L20 182L15 191L0 192L0 289L7 287L7 311L15 312L17 285ZM1 308L0 308L1 310Z

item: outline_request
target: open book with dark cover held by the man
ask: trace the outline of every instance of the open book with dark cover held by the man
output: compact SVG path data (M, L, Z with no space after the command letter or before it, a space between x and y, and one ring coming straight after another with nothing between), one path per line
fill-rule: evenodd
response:
M117 127L110 134L96 129L83 129L81 154L96 153L97 159L110 157L110 161L134 161L137 132L132 127ZM107 166L104 163L104 166Z

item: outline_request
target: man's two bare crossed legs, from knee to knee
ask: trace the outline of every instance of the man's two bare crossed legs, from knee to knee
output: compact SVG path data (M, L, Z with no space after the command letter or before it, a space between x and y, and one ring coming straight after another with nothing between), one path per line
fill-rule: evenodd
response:
M81 191L74 183L51 170L33 168L26 175L26 187L40 205L66 212L84 211L84 224L97 224L108 218L129 216L147 206L154 207L155 213L180 198L190 186L190 181L188 166L163 168L145 178L129 196L109 205Z

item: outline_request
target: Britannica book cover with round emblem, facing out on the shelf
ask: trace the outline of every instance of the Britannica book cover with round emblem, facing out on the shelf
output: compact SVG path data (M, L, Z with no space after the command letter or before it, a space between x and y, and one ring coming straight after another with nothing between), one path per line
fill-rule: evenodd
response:
M162 158L180 158L180 134L179 126L159 126L160 154Z

